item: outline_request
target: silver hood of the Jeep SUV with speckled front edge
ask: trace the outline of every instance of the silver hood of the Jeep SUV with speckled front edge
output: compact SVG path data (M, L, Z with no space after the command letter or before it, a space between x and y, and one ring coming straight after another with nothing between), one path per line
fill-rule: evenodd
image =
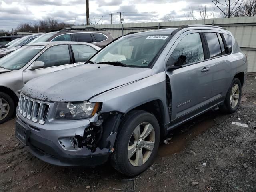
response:
M152 69L83 64L30 80L22 93L47 101L85 101L107 90L146 78Z

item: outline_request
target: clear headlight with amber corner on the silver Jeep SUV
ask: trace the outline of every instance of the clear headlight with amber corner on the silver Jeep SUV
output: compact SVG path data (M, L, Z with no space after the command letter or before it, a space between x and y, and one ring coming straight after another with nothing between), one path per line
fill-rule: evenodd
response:
M84 102L59 102L57 105L56 120L85 119L94 116L100 103Z

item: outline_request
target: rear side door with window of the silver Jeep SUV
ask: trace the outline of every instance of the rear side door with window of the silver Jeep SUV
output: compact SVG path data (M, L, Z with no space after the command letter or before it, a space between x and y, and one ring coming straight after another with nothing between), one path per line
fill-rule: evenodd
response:
M225 99L226 92L231 83L231 60L230 54L226 54L221 31L202 30L206 40L208 60L206 65L210 66L209 73L212 74L212 91L210 106L218 105Z

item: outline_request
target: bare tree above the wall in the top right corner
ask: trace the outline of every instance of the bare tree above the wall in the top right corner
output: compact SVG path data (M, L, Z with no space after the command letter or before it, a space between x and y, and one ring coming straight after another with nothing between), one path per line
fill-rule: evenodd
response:
M240 6L235 17L252 17L256 16L256 0L247 0Z

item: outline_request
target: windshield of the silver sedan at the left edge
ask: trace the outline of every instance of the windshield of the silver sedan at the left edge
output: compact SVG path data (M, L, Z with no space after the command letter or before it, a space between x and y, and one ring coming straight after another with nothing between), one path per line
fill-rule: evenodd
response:
M44 46L22 46L0 59L0 68L18 70L24 67Z

